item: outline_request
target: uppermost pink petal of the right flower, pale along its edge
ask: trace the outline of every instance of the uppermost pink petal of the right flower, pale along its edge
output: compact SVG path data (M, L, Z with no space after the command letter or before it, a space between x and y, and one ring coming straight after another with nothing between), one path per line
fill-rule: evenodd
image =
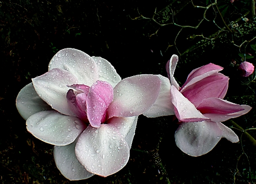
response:
M209 63L208 65L204 65L204 66L194 69L193 71L190 72L190 74L187 77L187 81L181 87L181 90L180 90L181 93L188 86L202 80L203 78L213 75L214 73L222 71L222 70L223 70L223 67L221 67L219 65L214 65L212 63Z

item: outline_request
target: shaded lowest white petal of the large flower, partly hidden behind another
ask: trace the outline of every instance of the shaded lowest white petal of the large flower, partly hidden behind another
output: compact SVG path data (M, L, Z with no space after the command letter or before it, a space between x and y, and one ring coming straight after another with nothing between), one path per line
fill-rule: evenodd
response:
M53 156L57 168L62 175L69 180L87 179L94 175L88 172L75 156L75 144L77 140L78 137L71 144L66 146L54 146L53 149Z

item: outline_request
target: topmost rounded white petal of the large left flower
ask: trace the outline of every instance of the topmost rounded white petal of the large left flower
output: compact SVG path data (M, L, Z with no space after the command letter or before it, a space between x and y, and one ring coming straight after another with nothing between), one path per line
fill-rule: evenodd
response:
M64 48L57 52L50 60L49 71L53 68L69 71L78 79L78 83L87 86L99 80L99 71L94 60L88 54L74 48Z

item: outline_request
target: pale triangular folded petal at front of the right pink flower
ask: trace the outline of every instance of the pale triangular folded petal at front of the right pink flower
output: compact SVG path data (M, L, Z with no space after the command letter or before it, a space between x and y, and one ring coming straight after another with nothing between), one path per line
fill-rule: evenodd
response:
M181 122L196 122L210 120L200 113L194 105L184 97L175 86L170 89L172 103L175 107L175 115Z

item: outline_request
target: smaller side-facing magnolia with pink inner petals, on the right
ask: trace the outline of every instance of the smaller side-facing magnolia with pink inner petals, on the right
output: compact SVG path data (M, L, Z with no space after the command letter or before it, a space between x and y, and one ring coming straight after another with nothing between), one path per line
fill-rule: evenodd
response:
M251 107L223 100L229 80L219 73L223 68L210 63L194 69L180 88L174 78L177 62L178 56L173 55L166 66L175 115L181 122L175 132L176 145L186 154L200 156L222 137L238 142L234 131L221 122L248 113Z

